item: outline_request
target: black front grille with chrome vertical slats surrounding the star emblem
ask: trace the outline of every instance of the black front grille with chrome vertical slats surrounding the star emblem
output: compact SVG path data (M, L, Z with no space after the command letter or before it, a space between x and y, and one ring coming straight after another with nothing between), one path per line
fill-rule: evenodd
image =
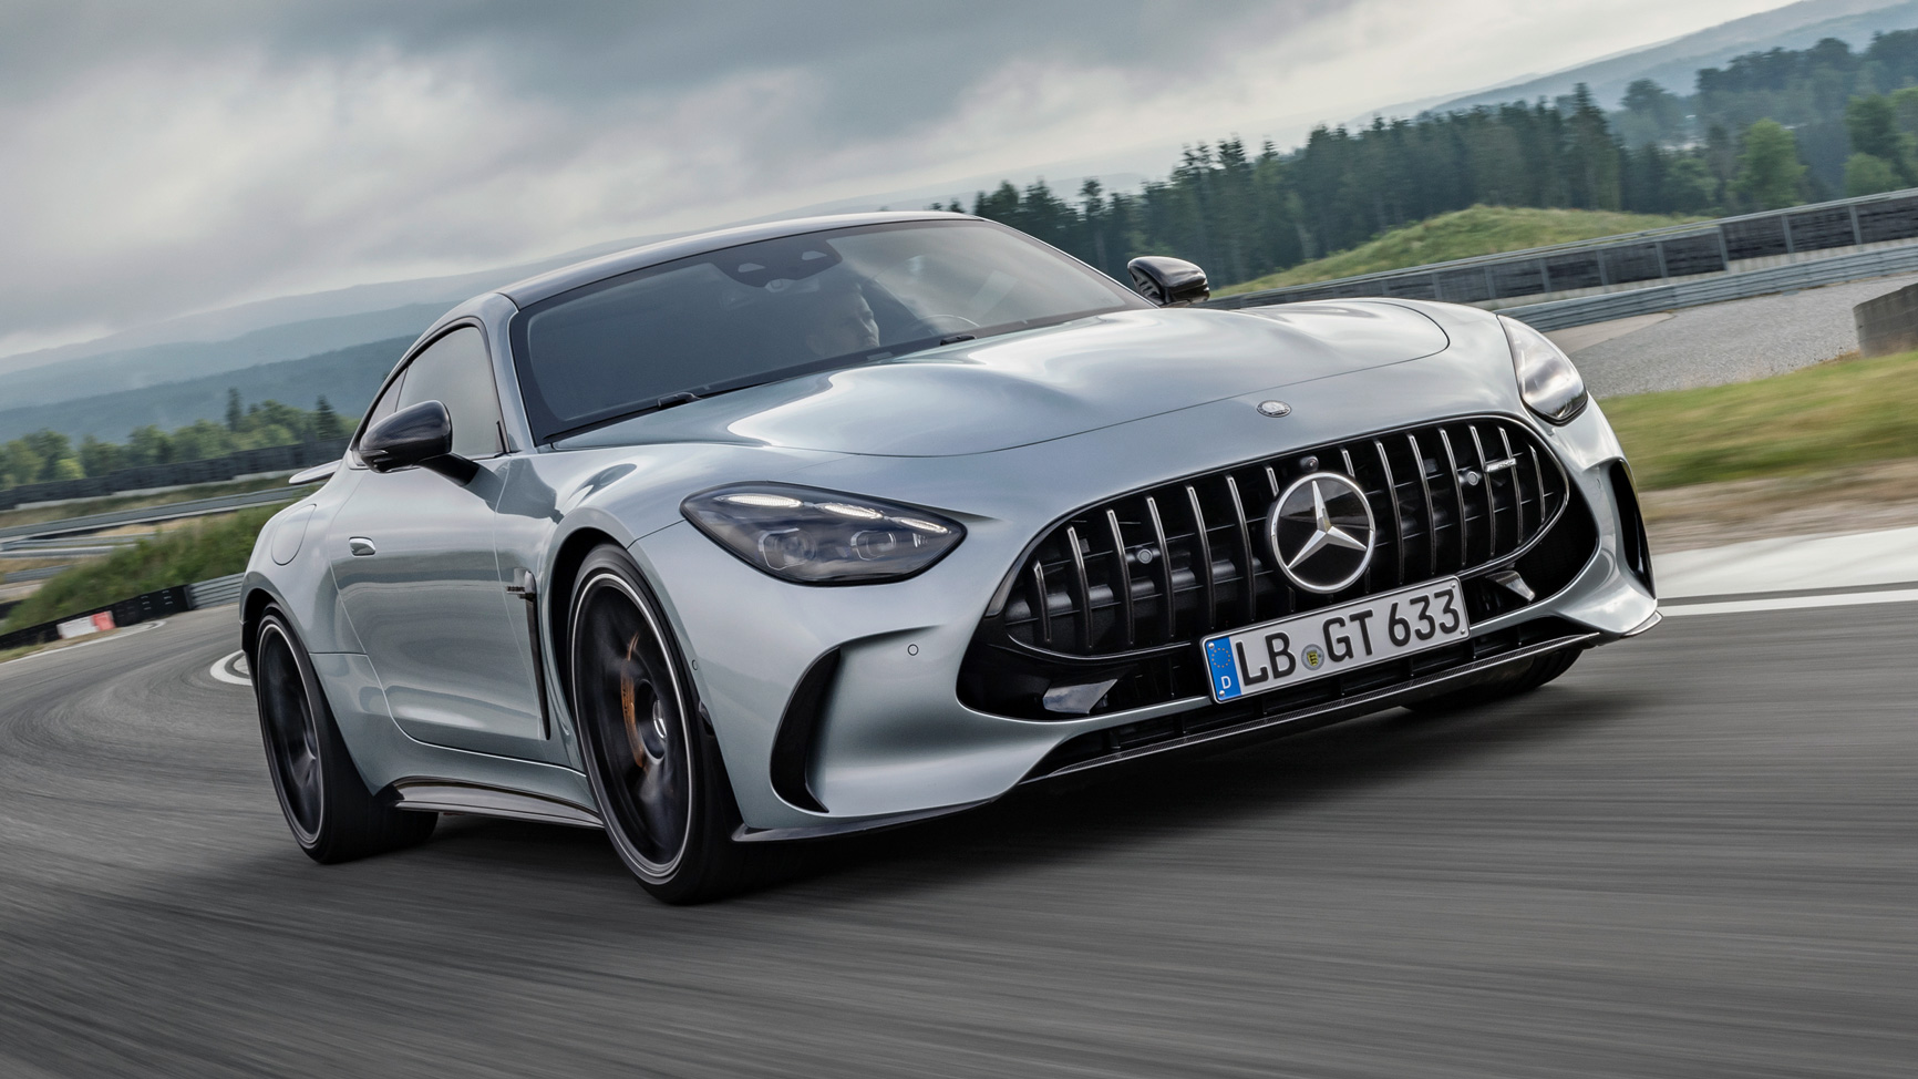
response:
M1345 591L1295 587L1266 515L1298 476L1341 472L1371 503L1377 538ZM1483 580L1517 568L1550 595L1598 541L1557 459L1521 422L1471 417L1251 461L1088 507L1045 532L999 589L961 666L959 697L997 714L1061 718L1057 685L1114 678L1093 708L1206 691L1205 635L1458 574L1473 620L1529 603ZM1550 534L1550 543L1544 541Z

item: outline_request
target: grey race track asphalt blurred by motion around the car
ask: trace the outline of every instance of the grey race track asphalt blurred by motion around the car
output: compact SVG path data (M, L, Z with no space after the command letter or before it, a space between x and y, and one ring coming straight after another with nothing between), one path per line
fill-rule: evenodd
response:
M1918 603L1667 620L842 841L712 906L449 818L307 862L234 611L0 664L0 1075L1740 1079L1918 1062Z

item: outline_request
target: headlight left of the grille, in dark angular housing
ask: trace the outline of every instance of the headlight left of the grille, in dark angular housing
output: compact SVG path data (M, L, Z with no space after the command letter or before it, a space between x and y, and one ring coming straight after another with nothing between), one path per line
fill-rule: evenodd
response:
M878 584L917 574L965 540L926 509L786 484L735 484L679 505L756 570L800 584Z

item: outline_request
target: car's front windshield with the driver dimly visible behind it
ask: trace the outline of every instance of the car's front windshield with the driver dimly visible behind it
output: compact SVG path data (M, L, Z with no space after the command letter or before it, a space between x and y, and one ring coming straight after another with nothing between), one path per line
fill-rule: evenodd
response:
M694 255L529 305L512 344L533 436L813 371L1147 305L999 225L905 221Z

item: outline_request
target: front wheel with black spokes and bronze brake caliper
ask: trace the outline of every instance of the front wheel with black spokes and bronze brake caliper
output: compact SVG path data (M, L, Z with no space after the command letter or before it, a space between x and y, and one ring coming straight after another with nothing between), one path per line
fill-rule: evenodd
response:
M664 902L740 889L738 804L660 603L614 545L589 553L577 582L568 693L606 837Z

